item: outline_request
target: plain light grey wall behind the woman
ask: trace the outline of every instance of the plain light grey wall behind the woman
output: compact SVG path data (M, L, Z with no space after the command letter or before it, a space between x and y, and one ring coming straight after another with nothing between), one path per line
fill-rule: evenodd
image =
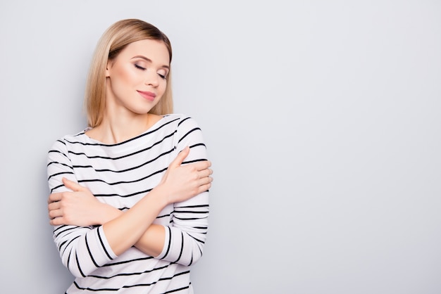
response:
M46 152L102 32L170 37L215 171L197 294L441 293L441 2L1 1L1 293L71 282Z

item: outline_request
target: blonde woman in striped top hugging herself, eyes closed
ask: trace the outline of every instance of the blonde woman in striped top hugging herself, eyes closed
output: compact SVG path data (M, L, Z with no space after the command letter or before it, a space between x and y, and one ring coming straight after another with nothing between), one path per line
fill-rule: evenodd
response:
M170 114L171 58L153 25L111 25L89 71L89 127L49 151L49 218L76 277L66 293L193 292L212 170L197 123Z

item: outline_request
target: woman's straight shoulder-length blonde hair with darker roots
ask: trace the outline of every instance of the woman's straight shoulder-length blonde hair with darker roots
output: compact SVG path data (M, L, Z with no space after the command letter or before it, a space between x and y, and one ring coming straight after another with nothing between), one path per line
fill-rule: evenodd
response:
M116 58L128 44L143 39L163 41L168 49L171 63L171 44L166 34L163 34L154 25L142 20L120 20L108 27L99 39L90 64L85 90L85 111L89 127L97 127L103 120L106 105L106 67L108 60ZM170 72L167 75L166 91L159 103L151 108L149 113L156 115L173 113Z

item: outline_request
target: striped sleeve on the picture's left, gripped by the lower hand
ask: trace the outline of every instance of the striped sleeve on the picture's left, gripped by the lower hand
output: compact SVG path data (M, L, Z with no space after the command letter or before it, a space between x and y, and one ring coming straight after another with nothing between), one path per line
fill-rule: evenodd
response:
M63 177L77 182L66 141L56 141L49 150L47 174L50 193L70 191ZM116 258L101 226L54 226L54 242L64 266L76 277L87 276Z

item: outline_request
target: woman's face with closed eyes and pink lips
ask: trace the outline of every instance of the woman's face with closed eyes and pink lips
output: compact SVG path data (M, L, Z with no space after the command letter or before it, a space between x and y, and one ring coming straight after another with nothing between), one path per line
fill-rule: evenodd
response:
M162 41L135 41L109 60L106 69L106 107L148 113L166 91L170 69L168 50Z

